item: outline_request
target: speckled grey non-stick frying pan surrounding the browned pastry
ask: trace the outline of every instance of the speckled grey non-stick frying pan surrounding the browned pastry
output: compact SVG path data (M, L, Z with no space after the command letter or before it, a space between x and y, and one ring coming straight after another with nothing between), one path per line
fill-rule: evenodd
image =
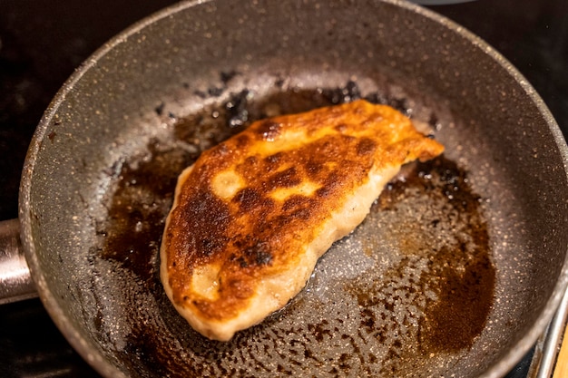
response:
M176 174L254 119L358 97L428 126L445 157L389 185L284 309L203 339L157 273ZM566 286L567 161L511 64L416 5L185 2L56 95L24 165L20 237L47 311L104 376L496 377Z

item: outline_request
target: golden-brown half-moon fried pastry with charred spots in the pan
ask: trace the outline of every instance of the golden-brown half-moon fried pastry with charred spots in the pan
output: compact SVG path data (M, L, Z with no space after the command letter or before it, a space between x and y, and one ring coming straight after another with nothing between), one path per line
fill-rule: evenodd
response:
M359 100L256 121L178 179L161 277L199 333L228 341L286 305L401 166L444 147Z

